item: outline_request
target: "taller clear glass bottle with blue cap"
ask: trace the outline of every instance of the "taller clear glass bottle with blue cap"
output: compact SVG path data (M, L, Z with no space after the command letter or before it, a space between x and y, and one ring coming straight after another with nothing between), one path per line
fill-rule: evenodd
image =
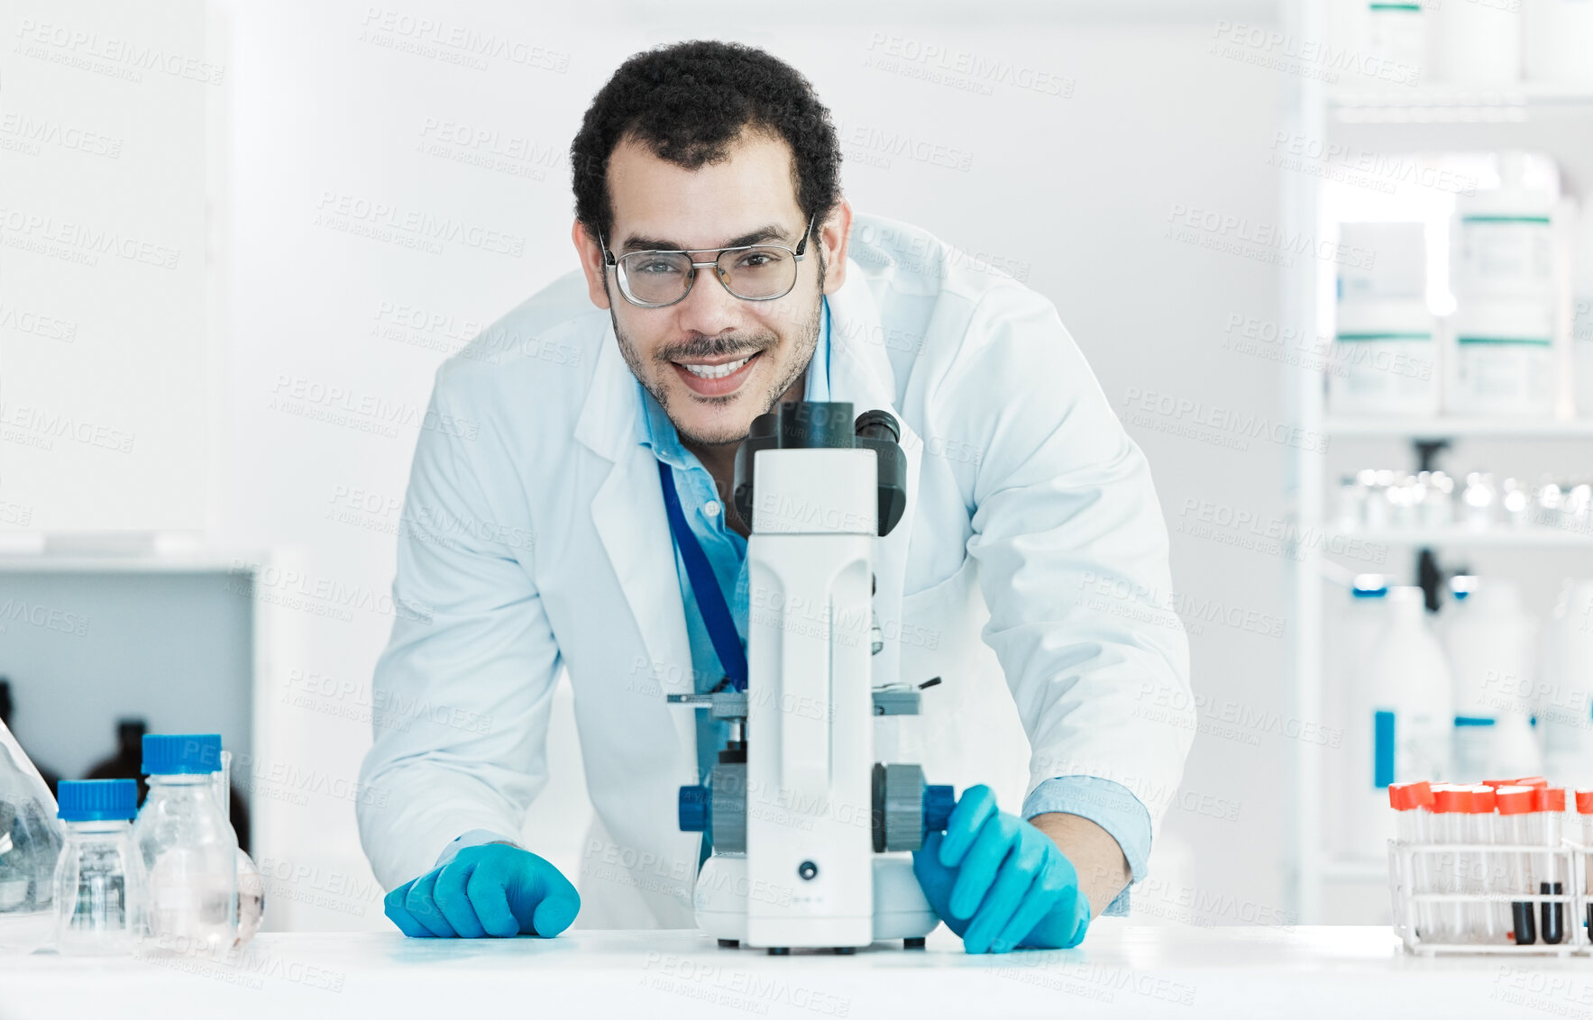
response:
M156 948L225 950L237 934L237 835L215 797L218 734L145 734L150 794L132 826Z

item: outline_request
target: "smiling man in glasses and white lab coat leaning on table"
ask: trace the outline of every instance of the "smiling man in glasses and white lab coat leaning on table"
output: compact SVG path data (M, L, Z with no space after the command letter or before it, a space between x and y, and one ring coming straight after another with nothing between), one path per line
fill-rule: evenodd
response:
M1188 652L1149 468L1050 302L854 216L828 111L758 49L629 59L572 162L580 272L441 368L429 417L478 428L416 449L376 692L433 710L378 719L358 800L389 917L444 937L553 936L577 912L693 926L706 845L675 792L723 734L664 695L726 675L718 605L746 640L734 450L795 399L902 423L875 672L945 683L922 740L881 729L876 757L964 789L914 855L930 904L969 952L1075 945L1126 912L1193 732L1169 708L1188 705ZM696 589L682 541L720 590ZM535 834L516 845L561 667L596 810L580 896Z

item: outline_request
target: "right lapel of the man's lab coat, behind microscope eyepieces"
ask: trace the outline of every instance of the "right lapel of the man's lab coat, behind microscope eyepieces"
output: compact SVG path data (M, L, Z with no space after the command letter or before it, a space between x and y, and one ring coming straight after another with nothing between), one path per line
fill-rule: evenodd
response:
M867 277L855 263L849 266L847 283L830 294L830 399L851 401L852 412L889 411L902 430L902 452L906 455L906 511L897 527L879 539L875 576L875 613L879 617L884 649L875 656L875 684L898 679L902 633L902 584L906 578L908 543L918 511L918 471L924 441L906 423L895 406L895 372L884 344L887 336L879 323L879 307ZM922 678L902 678L922 679Z

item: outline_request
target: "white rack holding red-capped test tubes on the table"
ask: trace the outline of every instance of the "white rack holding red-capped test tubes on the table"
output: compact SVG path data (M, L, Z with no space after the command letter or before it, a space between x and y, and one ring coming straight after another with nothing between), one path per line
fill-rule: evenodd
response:
M1418 859L1443 858L1453 855L1488 855L1483 861L1497 859L1507 855L1529 855L1532 861L1553 856L1558 866L1556 874L1569 877L1568 888L1561 893L1431 893L1416 891ZM1593 896L1587 888L1587 866L1590 850L1572 840L1561 840L1558 848L1540 845L1513 843L1407 843L1389 840L1389 893L1394 901L1394 934L1400 937L1407 953L1435 956L1440 953L1491 953L1491 955L1528 955L1528 956L1587 956L1593 955L1585 921L1590 917ZM1437 862L1434 864L1437 870ZM1561 920L1563 937L1556 944L1542 940L1532 945L1517 945L1507 934L1501 932L1499 942L1442 942L1424 939L1418 929L1416 918L1421 907L1434 909L1446 904L1534 904L1534 912L1540 912L1539 904L1558 904L1564 909Z

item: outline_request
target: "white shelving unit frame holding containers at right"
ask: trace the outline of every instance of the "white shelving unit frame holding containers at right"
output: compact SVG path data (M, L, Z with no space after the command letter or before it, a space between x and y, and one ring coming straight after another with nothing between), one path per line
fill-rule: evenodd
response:
M1290 40L1329 40L1333 35L1329 0L1286 0L1278 6L1279 29ZM1400 88L1351 78L1295 73L1279 76L1281 138L1321 140L1340 146L1346 164L1381 153L1472 153L1518 148L1545 151L1563 167L1587 173L1585 138L1593 137L1593 88L1523 83L1509 88L1464 88L1424 83ZM1297 165L1279 162L1278 224L1300 236L1327 236L1332 218L1340 215L1337 199L1327 193L1332 175L1301 173ZM1381 181L1373 181L1381 183ZM1389 193L1394 196L1394 193ZM1397 197L1397 196L1394 196ZM1403 199L1400 199L1403 200ZM1370 200L1368 200L1370 202ZM1373 216L1381 218L1381 216ZM1327 259L1297 259L1279 274L1278 315L1300 336L1330 336L1335 266ZM1593 439L1593 420L1489 420L1427 415L1411 419L1351 419L1329 412L1319 371L1282 366L1279 385L1290 423L1306 434L1329 436L1335 442L1392 439L1419 442L1456 439L1537 441L1553 444L1564 471L1577 471L1585 457L1575 441ZM1568 442L1569 441L1569 442ZM1575 457L1575 460L1572 460ZM1419 463L1411 460L1415 466ZM1324 662L1330 657L1325 616L1329 605L1324 576L1343 574L1344 566L1364 554L1365 543L1391 551L1373 570L1397 570L1392 563L1403 551L1478 551L1499 547L1523 554L1534 549L1550 555L1593 549L1593 528L1558 530L1497 528L1472 531L1445 528L1359 528L1341 531L1333 516L1333 461L1316 444L1300 444L1286 466L1284 503L1290 508L1292 533L1308 539L1292 546L1289 555L1290 621L1289 635L1290 702L1301 718L1322 718L1330 697ZM1335 538L1338 541L1335 541ZM1360 547L1338 543L1352 539ZM1536 559L1536 557L1532 557ZM1287 821L1287 851L1298 861L1290 883L1290 905L1301 923L1321 923L1327 901L1356 882L1388 882L1386 862L1376 866L1340 859L1327 851L1324 781L1329 761L1321 748L1298 742L1290 762L1292 810Z

